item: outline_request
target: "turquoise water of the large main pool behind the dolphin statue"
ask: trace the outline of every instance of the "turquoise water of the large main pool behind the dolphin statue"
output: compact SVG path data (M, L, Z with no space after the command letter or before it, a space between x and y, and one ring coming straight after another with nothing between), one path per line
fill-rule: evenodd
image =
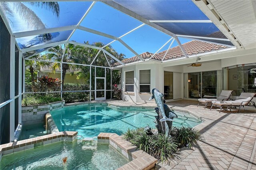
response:
M178 119L174 126L194 127L201 123L200 119L186 114L175 112ZM154 109L127 109L108 105L80 105L64 107L51 111L52 118L60 131L78 131L84 137L98 136L100 132L123 134L128 128L140 128L147 125L155 128Z

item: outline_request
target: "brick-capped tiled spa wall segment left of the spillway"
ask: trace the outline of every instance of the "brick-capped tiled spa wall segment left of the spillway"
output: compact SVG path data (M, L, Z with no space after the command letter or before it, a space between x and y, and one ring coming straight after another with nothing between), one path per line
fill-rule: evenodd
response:
M0 145L0 160L2 156L7 154L13 154L14 152L20 152L63 140L73 141L75 140L77 134L78 132L75 131L63 131L53 134L47 134L44 136L38 136L36 138L29 138L25 140L19 140L17 142L2 144Z

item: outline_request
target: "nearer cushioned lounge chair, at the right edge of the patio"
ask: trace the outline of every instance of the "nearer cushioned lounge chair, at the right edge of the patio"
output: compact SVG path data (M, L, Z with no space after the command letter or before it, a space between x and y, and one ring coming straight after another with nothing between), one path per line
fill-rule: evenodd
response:
M237 113L239 113L241 107L244 107L244 106L250 106L250 107L256 108L255 102L252 101L254 96L256 96L256 93L242 92L241 95L234 101L212 101L212 107L219 107L220 111L222 111L222 107L227 107L226 110L230 109L231 113L232 113L232 111L231 111L230 107L235 107L235 108L239 107L238 112L237 112ZM252 105L249 105L250 102L252 103ZM212 109L212 107L211 107L211 109ZM244 110L245 110L245 108L244 108Z

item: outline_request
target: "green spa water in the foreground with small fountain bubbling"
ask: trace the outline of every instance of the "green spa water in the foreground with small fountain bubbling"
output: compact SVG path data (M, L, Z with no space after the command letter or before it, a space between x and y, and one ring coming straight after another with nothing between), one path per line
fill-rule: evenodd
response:
M67 162L63 163L65 156ZM0 170L114 170L128 162L108 144L76 140L3 156Z

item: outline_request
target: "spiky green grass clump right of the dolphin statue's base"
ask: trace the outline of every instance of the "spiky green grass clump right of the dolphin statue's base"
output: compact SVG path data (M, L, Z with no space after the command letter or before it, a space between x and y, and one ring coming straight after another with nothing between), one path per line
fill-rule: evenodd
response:
M177 140L177 143L180 144L180 148L187 144L189 148L192 148L192 143L201 138L201 134L198 130L185 126L174 127L171 135Z

